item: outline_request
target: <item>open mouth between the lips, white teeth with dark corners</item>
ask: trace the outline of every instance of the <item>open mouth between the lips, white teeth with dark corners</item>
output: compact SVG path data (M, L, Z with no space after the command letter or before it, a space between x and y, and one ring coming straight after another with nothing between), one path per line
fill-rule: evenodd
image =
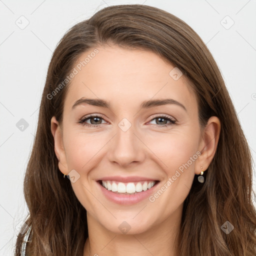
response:
M106 190L116 194L133 195L143 193L155 186L159 180L141 180L137 182L119 182L116 180L98 180Z

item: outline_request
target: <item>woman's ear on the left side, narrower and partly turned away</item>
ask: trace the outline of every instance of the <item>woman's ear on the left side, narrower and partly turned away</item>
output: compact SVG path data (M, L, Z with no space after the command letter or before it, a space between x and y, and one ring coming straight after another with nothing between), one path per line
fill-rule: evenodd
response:
M63 146L62 129L55 116L51 117L50 130L54 138L54 151L58 159L58 168L63 174L67 175L68 167L66 163L65 149Z

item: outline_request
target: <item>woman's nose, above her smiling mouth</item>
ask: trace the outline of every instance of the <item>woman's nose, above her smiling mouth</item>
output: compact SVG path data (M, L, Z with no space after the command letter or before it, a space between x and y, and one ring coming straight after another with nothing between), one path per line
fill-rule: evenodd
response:
M126 131L117 126L115 136L109 141L109 161L122 167L127 167L131 163L142 162L145 158L146 149L142 141L139 132L132 125Z

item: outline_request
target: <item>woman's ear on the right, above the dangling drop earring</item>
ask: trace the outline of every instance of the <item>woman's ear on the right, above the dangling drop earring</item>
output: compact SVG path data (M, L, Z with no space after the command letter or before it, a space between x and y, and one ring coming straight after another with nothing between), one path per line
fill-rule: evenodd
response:
M200 174L201 171L206 170L213 159L217 149L220 126L218 117L211 116L203 128L198 148L201 154L195 164L195 174Z

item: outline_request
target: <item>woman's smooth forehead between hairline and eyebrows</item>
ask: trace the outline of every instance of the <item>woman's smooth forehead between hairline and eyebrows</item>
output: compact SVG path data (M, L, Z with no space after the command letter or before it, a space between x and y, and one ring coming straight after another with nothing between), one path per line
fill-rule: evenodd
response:
M65 105L81 97L104 98L116 106L135 106L144 100L166 97L188 107L196 103L186 78L178 78L178 69L151 51L118 46L92 48L80 55L74 69Z

